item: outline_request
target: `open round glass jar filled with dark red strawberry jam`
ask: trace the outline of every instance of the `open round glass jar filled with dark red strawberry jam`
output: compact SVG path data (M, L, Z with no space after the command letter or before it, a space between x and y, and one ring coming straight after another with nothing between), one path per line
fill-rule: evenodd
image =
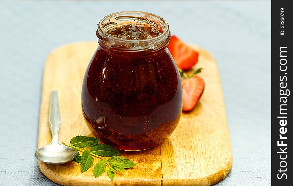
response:
M87 126L121 150L155 147L171 135L182 114L181 78L167 48L168 23L146 12L117 12L100 21L96 34L99 46L82 86Z

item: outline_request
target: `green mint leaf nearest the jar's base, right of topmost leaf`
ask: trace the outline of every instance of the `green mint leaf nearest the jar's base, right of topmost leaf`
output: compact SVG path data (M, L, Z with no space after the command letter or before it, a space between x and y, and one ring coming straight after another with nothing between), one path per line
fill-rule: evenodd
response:
M90 151L95 155L104 157L118 156L121 154L116 148L107 144L97 144L96 146L91 147Z

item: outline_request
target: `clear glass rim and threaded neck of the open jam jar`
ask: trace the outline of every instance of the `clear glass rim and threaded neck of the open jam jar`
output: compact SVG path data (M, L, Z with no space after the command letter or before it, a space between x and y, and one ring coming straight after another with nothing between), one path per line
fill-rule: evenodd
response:
M158 30L161 34L149 39L126 40L107 33L110 29L123 24L151 24L159 28ZM171 34L168 23L158 15L142 11L122 11L104 17L98 24L96 35L102 47L112 50L133 52L159 49L167 45Z

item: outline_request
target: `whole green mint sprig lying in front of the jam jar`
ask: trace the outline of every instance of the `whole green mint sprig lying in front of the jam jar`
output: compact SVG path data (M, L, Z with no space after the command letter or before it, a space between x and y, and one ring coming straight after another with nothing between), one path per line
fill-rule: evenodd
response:
M109 178L113 181L115 177L115 171L123 172L125 168L131 168L135 166L131 160L125 157L119 157L121 153L114 147L107 144L98 144L100 139L88 136L75 136L70 140L70 144L65 144L67 147L73 148L77 155L73 159L74 162L80 163L81 172L87 171L94 162L94 157L98 157L101 160L95 164L94 176L99 177L106 170ZM90 148L90 149L85 149ZM82 152L80 155L79 152ZM103 157L110 157L105 160Z

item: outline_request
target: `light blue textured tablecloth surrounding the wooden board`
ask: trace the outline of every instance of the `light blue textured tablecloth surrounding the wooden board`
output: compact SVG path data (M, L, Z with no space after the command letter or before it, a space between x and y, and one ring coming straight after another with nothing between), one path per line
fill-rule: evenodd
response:
M1 1L0 185L55 185L34 157L45 59L96 41L99 20L125 10L160 15L216 58L233 151L217 185L271 185L270 1Z

